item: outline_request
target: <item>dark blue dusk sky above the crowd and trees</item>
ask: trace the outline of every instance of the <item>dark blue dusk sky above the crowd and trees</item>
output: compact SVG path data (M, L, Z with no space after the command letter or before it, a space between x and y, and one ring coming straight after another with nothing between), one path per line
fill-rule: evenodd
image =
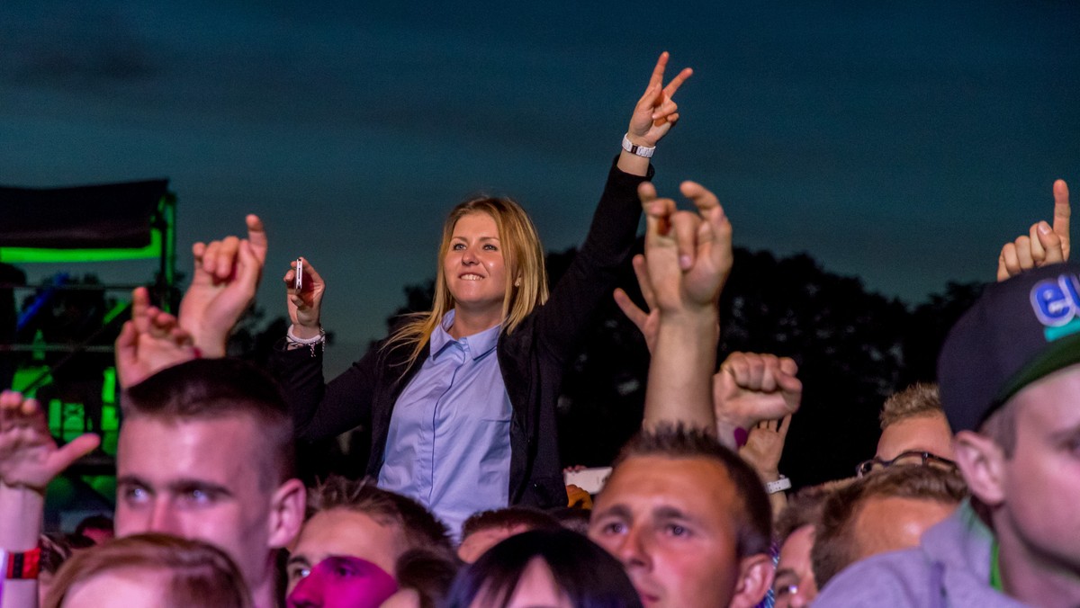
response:
M579 244L667 50L694 76L660 191L701 181L737 244L914 302L993 279L1002 242L1050 218L1054 178L1080 198L1078 35L1064 0L3 0L0 184L168 177L184 271L191 242L259 214L259 301L284 313L279 279L308 257L337 370L433 275L460 200L513 195L548 249Z

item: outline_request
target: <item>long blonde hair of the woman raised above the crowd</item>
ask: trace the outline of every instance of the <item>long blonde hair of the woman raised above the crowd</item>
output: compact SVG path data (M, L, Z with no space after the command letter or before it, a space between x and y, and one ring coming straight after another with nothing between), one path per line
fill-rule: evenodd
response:
M454 309L454 295L446 286L443 260L450 248L454 227L462 217L485 213L495 219L502 243L502 259L507 266L505 295L502 299L502 332L513 333L536 307L548 301L548 271L544 269L543 247L540 237L525 210L507 198L477 198L465 201L450 211L443 224L443 242L438 245L438 271L435 274L435 298L430 312L409 315L387 341L386 348L411 348L407 364L416 363L420 352L431 339L431 334L443 316Z

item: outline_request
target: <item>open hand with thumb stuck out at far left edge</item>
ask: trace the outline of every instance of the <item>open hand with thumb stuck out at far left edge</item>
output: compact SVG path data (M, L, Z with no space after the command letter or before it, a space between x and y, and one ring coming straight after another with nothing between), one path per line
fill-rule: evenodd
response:
M56 447L37 401L14 391L0 394L0 483L5 486L43 494L53 477L99 444L97 435L85 434Z

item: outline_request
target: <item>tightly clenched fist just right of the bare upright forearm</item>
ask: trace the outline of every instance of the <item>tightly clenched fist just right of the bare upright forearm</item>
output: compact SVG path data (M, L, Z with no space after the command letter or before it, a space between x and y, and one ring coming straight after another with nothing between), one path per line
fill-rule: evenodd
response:
M750 430L762 420L795 414L802 401L802 381L795 361L773 354L733 352L713 376L717 422ZM721 437L726 435L720 430Z

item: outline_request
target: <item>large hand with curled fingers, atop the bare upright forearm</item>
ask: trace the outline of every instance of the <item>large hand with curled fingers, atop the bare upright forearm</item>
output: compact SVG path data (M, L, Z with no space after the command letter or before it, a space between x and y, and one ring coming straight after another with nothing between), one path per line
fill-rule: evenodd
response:
M731 273L731 222L716 195L693 181L679 189L698 214L675 211L652 184L637 190L646 213L645 266L661 314L715 310Z

